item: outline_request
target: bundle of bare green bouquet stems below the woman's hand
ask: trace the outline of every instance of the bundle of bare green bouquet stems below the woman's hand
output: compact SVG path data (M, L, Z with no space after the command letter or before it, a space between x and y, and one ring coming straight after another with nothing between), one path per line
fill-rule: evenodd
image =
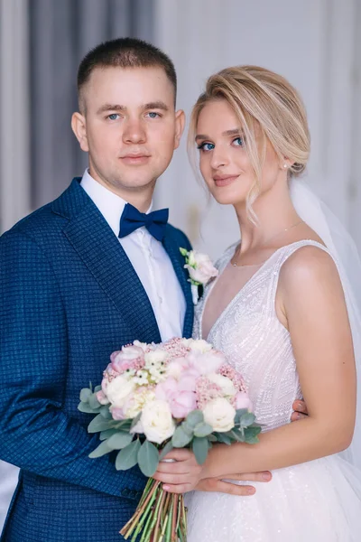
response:
M185 542L187 537L187 509L183 495L167 493L162 483L150 478L134 515L120 534L135 542Z

